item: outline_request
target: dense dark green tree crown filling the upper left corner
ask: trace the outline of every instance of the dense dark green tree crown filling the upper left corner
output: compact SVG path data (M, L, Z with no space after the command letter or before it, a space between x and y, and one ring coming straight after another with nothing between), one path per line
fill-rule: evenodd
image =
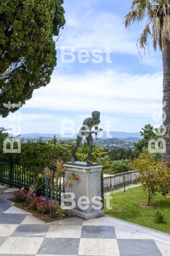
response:
M63 0L0 2L0 116L4 102L25 104L33 91L50 82L56 66L53 36L65 24Z

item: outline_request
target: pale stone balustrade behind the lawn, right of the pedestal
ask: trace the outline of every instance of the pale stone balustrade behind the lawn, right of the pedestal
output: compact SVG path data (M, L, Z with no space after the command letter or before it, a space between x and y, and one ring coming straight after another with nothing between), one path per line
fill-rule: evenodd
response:
M109 175L103 177L103 191L112 190L123 186L123 176L125 176L125 184L134 183L139 179L138 171L129 171L121 174Z

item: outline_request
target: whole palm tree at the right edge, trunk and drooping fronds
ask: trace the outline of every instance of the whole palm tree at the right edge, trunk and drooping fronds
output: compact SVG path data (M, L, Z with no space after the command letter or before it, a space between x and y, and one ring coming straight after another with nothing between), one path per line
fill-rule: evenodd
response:
M166 127L166 133L163 135L166 153L162 153L162 159L168 162L170 167L170 0L133 0L130 12L125 17L125 27L130 27L131 23L140 22L144 18L147 18L147 22L138 39L139 47L145 50L145 47L149 46L148 36L151 35L154 50L156 51L159 45L162 52L163 102L166 102L163 104L163 111L166 113L166 119L163 120Z

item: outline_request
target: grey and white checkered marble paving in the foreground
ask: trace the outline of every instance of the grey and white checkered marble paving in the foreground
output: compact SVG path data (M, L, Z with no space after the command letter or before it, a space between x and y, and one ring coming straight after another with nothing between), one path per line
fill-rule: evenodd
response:
M0 194L0 256L170 256L170 235L108 216L46 224L9 197Z

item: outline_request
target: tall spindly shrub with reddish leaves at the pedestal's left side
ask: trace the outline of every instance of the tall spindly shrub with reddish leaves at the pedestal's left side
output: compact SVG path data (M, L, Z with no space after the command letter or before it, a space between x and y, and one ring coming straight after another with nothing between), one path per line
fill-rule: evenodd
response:
M59 210L59 198L58 198L58 188L59 188L59 178L66 173L66 168L62 167L63 161L57 161L55 171L50 170L49 168L45 168L46 175L48 175L48 182L50 188L50 213L51 218L55 218L56 214L59 213L61 217L64 216L64 213L61 213ZM70 173L68 176L68 181L75 181L78 180L75 172ZM63 183L63 189L66 187L72 188L72 183Z

